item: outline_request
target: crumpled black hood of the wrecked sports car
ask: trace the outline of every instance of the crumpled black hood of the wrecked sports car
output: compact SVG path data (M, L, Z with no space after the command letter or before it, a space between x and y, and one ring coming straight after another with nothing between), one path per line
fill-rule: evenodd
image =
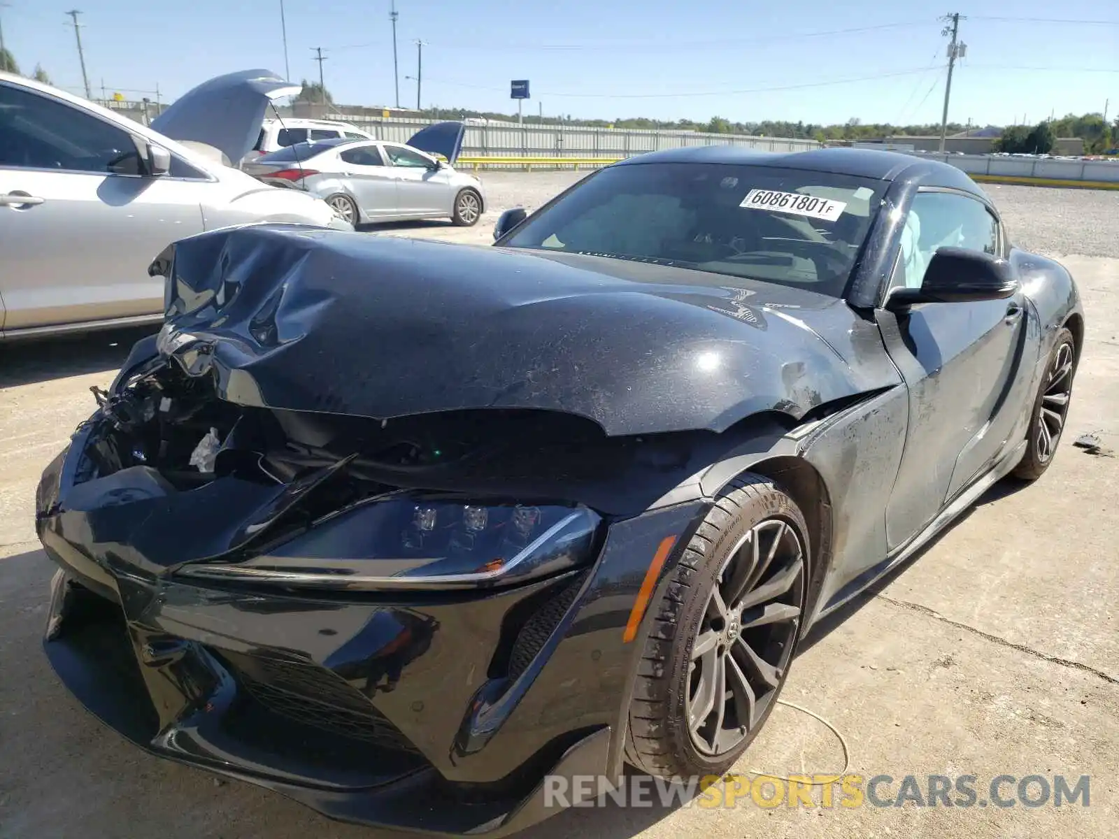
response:
M242 405L538 408L619 435L799 418L892 384L801 320L852 332L841 302L697 271L281 225L184 239L153 270L169 277L159 351Z

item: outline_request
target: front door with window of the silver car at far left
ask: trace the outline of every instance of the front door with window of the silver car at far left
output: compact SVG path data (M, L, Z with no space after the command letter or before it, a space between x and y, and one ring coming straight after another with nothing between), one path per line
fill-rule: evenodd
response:
M169 175L148 177L144 149L93 112L0 83L6 332L162 310L162 282L148 266L201 232L199 190L213 185L178 159Z

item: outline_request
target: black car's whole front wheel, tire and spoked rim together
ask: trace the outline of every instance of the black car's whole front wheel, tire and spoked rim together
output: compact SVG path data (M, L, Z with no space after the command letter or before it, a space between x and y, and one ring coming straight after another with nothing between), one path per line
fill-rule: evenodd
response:
M761 730L803 620L807 534L768 478L744 474L715 501L650 606L626 743L638 770L721 775Z

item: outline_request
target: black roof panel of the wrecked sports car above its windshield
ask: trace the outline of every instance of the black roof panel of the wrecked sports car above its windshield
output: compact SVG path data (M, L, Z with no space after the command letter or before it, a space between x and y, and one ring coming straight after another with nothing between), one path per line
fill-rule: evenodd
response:
M962 170L939 160L916 158L876 149L810 149L808 151L759 151L739 145L693 145L627 158L614 166L643 163L732 163L779 169L850 175L894 181L962 189L982 196L982 190Z

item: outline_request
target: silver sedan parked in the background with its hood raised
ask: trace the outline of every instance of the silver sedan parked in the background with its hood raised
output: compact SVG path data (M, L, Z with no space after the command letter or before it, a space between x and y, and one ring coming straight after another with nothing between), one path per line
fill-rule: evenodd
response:
M245 163L243 169L265 183L294 187L323 198L354 224L450 218L469 227L486 209L477 178L401 143L297 143Z

